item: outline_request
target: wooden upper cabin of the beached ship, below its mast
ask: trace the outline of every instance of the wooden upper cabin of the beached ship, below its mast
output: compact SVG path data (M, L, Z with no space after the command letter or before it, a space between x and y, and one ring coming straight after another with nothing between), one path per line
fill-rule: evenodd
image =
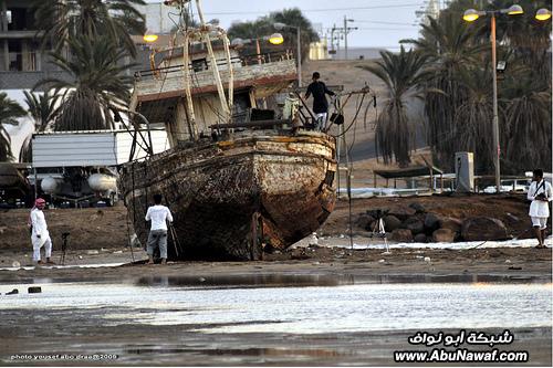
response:
M228 98L227 52L222 43L213 42L212 49ZM150 54L152 69L135 73L131 109L143 114L152 125L164 124L171 147L195 136L210 137L215 125L267 119L265 109L276 106L274 95L288 88L296 78L292 53L283 51L244 55L240 54L237 46L230 46L229 51L233 74L230 119L222 113L211 59L206 44L201 42L191 43L188 51L186 67L191 106L186 102L184 48L174 46L154 51ZM194 120L191 124L190 119Z

